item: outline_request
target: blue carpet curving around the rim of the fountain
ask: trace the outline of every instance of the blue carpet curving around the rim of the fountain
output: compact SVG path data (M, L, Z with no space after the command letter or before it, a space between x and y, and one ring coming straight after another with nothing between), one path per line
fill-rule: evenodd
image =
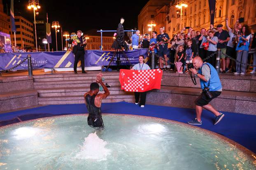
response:
M85 104L49 105L22 111L2 113L0 114L0 125L18 122L16 117L19 117L21 120L30 120L46 116L77 113L88 113ZM195 109L155 105L146 105L144 108L140 108L138 105L127 102L103 103L102 113L152 116L184 123L195 118ZM221 122L217 125L213 125L214 115L204 110L202 113L203 124L198 125L198 127L214 131L215 133L230 138L256 153L256 116L230 112L223 113L225 113L225 117Z

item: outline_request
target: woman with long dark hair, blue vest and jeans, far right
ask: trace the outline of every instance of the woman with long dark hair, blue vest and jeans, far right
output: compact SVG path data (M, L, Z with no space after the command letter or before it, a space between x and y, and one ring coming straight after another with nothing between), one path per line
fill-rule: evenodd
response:
M244 64L236 62L236 72L234 73L235 75L245 75L250 40L251 30L248 25L243 25L242 32L237 33L237 47L235 50L237 51L237 61L242 62Z

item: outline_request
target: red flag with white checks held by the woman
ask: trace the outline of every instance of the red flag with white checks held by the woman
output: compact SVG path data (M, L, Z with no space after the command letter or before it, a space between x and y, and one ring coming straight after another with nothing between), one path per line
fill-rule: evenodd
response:
M144 92L152 89L161 89L163 71L153 70L125 70L121 69L119 82L125 91Z

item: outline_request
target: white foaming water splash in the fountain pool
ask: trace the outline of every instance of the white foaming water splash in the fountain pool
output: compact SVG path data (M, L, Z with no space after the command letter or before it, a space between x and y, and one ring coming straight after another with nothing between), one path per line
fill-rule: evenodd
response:
M81 146L80 152L77 153L77 159L93 159L96 161L105 161L111 150L105 148L106 141L100 139L96 132L91 133L84 138L84 145Z

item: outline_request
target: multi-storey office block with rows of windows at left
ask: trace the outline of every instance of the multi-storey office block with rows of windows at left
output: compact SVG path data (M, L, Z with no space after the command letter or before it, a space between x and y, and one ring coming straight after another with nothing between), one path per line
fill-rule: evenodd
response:
M15 17L16 45L22 48L34 47L33 23L22 16ZM14 32L11 33L12 44L14 44Z

